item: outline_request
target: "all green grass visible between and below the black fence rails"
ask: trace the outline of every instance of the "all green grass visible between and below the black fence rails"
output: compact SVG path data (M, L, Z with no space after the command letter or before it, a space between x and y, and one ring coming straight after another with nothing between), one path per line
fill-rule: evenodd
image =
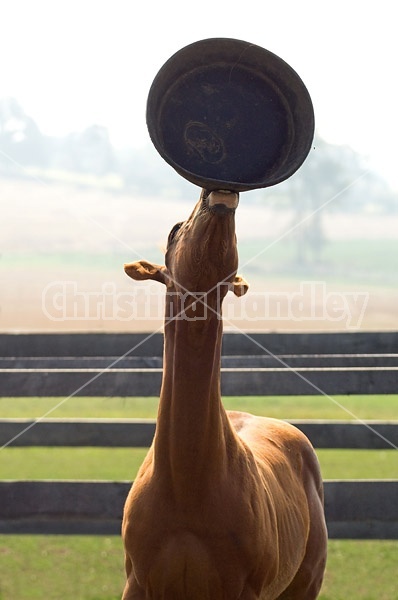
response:
M0 398L2 417L154 418L157 398ZM398 396L225 398L227 408L278 418L393 420ZM344 408L342 408L344 407ZM349 412L347 412L349 411ZM146 449L6 448L1 479L134 478ZM319 450L323 477L397 478L398 453ZM320 600L395 600L396 541L329 542ZM0 536L0 600L116 600L124 585L118 536Z

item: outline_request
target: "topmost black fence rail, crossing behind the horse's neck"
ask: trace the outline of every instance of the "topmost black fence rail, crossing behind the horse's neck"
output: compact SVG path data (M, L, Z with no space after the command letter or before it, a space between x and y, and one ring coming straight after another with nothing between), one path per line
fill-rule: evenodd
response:
M161 333L0 334L0 356L162 356ZM398 354L397 332L224 333L223 356Z

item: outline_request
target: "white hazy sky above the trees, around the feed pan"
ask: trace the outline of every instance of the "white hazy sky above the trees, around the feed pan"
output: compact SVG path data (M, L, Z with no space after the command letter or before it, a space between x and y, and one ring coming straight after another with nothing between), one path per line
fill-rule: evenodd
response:
M0 0L0 97L49 134L98 123L149 142L145 104L163 63L208 37L253 42L304 80L317 130L398 189L398 31L391 0Z

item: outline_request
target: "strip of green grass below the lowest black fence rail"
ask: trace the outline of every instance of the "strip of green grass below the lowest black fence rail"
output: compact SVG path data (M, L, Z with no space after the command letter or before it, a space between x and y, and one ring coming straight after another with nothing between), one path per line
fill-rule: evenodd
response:
M332 540L319 600L395 600L397 543ZM0 536L0 600L120 600L118 537Z

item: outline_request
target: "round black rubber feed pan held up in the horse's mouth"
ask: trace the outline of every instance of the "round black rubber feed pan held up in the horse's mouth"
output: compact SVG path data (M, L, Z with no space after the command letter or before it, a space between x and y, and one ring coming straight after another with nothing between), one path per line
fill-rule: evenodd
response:
M201 40L174 54L148 95L159 154L208 190L246 191L290 177L314 136L310 95L281 58L249 42Z

